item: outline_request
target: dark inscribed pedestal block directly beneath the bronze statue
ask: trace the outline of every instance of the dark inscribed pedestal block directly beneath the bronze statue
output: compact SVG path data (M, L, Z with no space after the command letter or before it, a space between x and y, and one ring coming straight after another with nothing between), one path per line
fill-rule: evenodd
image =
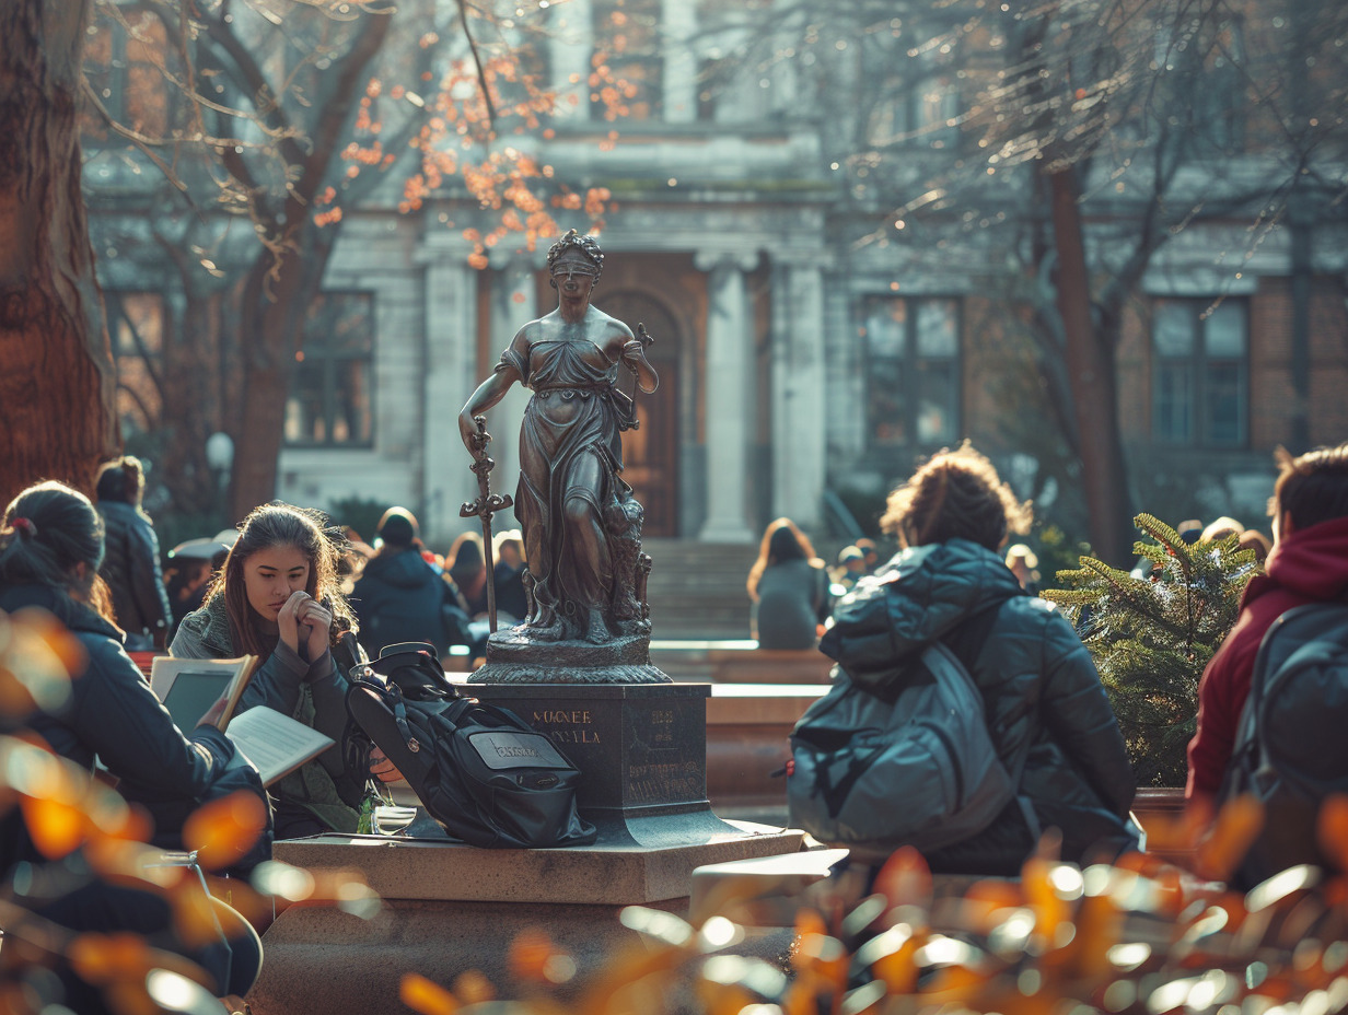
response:
M581 816L603 844L702 842L731 826L706 798L706 683L468 683L558 744L585 774Z

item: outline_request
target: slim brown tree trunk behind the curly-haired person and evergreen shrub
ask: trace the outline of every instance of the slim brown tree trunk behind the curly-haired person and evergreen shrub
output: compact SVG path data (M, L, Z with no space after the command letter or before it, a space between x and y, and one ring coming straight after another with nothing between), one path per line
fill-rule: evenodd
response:
M1123 566L1132 539L1123 439L1119 434L1113 344L1091 315L1091 272L1081 229L1076 168L1049 173L1053 237L1058 249L1058 314L1081 448L1081 484L1096 557Z

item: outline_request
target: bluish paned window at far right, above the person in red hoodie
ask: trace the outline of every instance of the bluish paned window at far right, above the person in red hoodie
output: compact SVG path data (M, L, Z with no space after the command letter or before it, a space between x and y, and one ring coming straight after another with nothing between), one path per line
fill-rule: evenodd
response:
M1153 433L1165 443L1240 448L1248 430L1248 307L1157 301Z

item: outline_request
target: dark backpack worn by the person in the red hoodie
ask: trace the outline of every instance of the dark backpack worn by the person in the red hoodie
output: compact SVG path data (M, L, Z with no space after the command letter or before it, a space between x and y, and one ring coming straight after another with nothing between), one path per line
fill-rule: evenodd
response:
M1236 873L1252 886L1295 864L1335 867L1320 805L1348 793L1348 605L1289 609L1264 632L1219 799L1254 795L1264 825Z

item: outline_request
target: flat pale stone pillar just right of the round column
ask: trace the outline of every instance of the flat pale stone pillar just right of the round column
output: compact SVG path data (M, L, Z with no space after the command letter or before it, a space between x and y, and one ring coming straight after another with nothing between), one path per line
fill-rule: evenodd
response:
M772 280L772 515L813 530L826 460L824 278L817 264L785 264Z

